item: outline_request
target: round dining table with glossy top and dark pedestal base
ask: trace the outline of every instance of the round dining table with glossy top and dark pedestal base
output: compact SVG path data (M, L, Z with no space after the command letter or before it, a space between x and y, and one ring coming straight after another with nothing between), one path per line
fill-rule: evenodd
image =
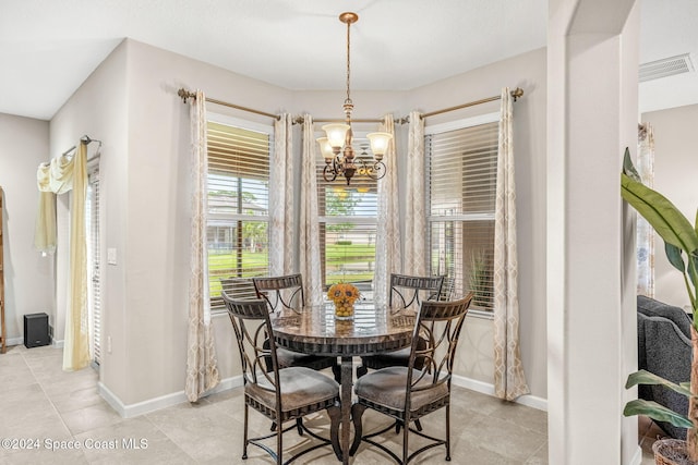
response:
M349 463L353 357L408 347L414 319L411 309L376 306L372 302L356 303L350 320L336 318L330 303L300 310L285 309L272 317L277 346L303 354L341 357L339 450L335 448L335 452L344 464Z

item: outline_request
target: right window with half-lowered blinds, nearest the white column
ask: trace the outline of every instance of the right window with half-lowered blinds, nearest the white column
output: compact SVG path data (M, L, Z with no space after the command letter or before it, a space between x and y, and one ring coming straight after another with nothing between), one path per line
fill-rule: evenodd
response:
M498 113L425 129L430 271L447 291L494 306L494 203Z

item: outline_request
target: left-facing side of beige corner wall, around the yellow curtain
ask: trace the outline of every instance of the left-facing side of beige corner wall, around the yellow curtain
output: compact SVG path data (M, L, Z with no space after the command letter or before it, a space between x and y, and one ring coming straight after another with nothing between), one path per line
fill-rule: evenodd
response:
M100 380L116 392L132 383L128 378L129 360L123 352L123 329L115 325L125 313L124 294L127 274L123 269L123 247L128 229L125 205L128 182L128 130L127 130L127 49L118 47L82 84L73 96L56 113L50 124L51 156L57 156L75 145L81 136L88 135L103 140L100 157L100 225L101 256L106 257L106 246L117 247L118 265L106 265L101 269L103 283L103 331L109 330L113 338L113 350L107 352L107 332L103 332L103 365ZM96 144L88 146L88 157L96 150ZM69 207L68 197L58 206L59 242L68 243ZM68 282L68 256L57 256L57 315L64 328ZM62 335L62 332L61 332ZM62 338L61 338L62 339Z

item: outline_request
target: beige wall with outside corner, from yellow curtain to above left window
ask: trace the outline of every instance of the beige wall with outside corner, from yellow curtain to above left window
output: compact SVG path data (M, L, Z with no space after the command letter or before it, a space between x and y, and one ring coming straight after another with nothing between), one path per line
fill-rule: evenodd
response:
M268 112L289 100L282 89L125 40L51 122L52 150L83 133L105 142L103 256L116 249L117 264L103 277L100 381L127 406L184 386L190 129L180 87ZM220 370L230 377L231 330L219 322Z

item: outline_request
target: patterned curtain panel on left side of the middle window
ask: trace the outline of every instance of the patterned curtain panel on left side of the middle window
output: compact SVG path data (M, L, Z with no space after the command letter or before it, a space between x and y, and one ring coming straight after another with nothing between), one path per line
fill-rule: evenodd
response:
M299 224L299 267L305 286L305 301L317 305L323 301L323 279L320 262L320 223L317 222L316 152L313 118L303 115L303 148L301 162L301 211Z

